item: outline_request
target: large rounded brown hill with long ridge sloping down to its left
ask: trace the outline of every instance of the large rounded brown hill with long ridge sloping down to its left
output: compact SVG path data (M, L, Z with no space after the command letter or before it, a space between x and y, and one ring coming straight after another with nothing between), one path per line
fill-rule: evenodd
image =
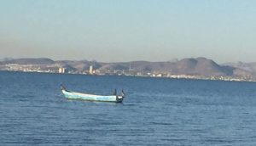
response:
M128 70L130 63L112 63L102 65L100 70ZM182 59L175 62L133 61L131 70L148 72L169 72L175 75L232 76L233 67L221 66L211 59Z

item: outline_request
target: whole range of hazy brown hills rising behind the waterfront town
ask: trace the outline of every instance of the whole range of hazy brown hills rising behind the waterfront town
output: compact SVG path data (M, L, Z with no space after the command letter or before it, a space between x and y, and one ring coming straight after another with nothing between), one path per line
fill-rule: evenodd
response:
M131 61L104 63L88 60L57 60L47 58L39 59L3 59L0 61L2 69L6 64L18 65L40 65L40 68L49 68L51 65L54 70L58 67L65 67L68 70L77 72L88 71L90 65L93 69L101 73L125 70L133 73L165 73L171 75L195 75L195 76L256 76L256 63L226 63L218 65L212 59L175 59L166 62L148 62L148 61Z

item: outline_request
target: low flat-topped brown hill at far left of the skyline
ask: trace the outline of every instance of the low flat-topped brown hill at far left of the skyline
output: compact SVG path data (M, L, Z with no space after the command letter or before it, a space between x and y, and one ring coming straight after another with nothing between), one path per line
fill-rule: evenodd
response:
M55 61L47 58L38 59L4 59L2 64L18 64L18 65L31 65L31 64L55 64Z

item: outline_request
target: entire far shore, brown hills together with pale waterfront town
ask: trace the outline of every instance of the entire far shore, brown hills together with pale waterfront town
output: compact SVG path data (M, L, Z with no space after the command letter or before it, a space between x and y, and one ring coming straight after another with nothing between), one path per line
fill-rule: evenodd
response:
M255 70L254 70L255 68ZM67 73L96 76L146 76L175 79L256 81L256 63L218 65L212 59L188 58L174 62L131 61L103 63L88 60L6 59L0 61L0 70Z

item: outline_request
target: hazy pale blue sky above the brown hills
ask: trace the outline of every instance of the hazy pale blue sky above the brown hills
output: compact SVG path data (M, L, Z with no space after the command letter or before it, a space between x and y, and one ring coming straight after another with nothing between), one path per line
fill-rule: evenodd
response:
M0 0L0 58L256 62L255 0Z

